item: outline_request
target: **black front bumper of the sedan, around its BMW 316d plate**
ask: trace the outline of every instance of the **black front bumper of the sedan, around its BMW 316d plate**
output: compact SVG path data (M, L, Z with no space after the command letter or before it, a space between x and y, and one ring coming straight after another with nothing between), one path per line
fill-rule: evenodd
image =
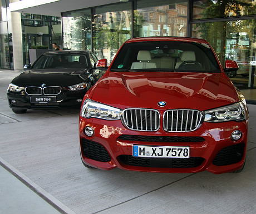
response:
M44 108L68 108L68 107L81 107L81 102L77 99L83 99L86 93L86 89L81 91L68 91L62 89L60 94L49 95L56 96L56 102L42 102L42 103L31 103L31 97L47 97L46 95L28 95L26 93L14 93L7 91L8 104L10 108L17 110L27 109L44 109Z

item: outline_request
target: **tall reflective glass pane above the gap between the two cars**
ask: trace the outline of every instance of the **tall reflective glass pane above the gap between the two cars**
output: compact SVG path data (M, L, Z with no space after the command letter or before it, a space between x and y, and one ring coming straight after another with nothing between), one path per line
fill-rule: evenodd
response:
M117 50L131 38L131 3L96 8L93 16L93 52L112 62Z

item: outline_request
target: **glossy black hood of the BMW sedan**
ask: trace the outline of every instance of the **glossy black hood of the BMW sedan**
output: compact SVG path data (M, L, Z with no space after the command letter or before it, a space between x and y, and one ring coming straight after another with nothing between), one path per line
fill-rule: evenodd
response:
M24 71L13 79L12 83L20 87L28 86L72 86L74 84L87 82L90 77L90 69L59 68L59 69L31 69Z

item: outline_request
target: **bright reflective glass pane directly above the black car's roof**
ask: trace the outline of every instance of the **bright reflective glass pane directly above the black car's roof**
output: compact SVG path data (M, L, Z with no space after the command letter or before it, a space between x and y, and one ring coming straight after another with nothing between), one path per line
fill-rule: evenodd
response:
M91 50L90 10L64 13L62 22L64 49Z

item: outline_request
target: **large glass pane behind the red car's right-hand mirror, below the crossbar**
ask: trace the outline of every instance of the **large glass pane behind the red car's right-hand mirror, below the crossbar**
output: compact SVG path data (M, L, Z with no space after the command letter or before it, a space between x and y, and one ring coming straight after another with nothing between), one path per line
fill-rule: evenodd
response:
M246 99L256 99L256 19L198 23L193 25L193 37L206 39L224 67L225 60L237 61L238 71L227 76Z

